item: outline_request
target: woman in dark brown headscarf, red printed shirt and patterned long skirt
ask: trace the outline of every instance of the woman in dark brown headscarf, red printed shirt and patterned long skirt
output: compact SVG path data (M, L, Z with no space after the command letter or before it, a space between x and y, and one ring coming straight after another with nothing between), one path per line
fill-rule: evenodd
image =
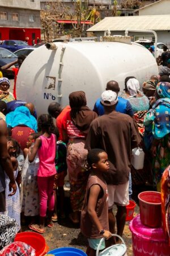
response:
M73 213L70 214L74 224L79 222L89 172L86 170L87 150L84 149L86 135L91 122L97 114L88 108L86 94L82 91L69 95L70 112L63 120L63 138L69 140L67 148L67 167L70 181L70 201Z

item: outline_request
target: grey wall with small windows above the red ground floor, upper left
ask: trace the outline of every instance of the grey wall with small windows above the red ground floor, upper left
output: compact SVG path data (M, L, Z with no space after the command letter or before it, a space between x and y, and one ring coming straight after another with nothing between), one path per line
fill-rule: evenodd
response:
M40 11L29 9L15 9L10 7L1 7L1 12L7 13L7 20L0 19L0 26L4 27L41 27ZM19 14L19 21L12 20L12 14ZM29 21L29 15L35 15L35 22Z

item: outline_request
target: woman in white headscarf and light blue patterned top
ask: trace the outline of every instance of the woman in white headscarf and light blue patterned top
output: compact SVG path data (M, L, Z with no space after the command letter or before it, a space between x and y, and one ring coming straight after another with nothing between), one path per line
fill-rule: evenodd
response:
M139 133L141 136L143 136L143 119L148 109L150 108L150 102L139 89L139 81L135 79L134 76L126 77L125 90L122 90L119 96L122 98L126 98L126 100L130 102L134 112L134 118L136 119L138 124Z

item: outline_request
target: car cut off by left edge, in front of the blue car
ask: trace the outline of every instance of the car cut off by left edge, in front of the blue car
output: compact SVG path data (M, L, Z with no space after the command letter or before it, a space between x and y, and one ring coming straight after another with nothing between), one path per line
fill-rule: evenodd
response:
M0 48L0 67L8 64L8 63L11 63L12 61L15 61L17 60L17 56L11 52L11 51L8 51L8 49L5 49L5 48ZM17 66L17 64L16 64ZM6 71L3 71L3 76L11 76L11 74L6 73Z

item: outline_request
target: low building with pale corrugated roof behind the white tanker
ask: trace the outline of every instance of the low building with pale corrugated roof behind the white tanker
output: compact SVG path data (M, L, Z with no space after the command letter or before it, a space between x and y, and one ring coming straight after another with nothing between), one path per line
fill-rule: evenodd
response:
M170 3L169 3L170 5ZM107 17L87 30L93 32L97 38L110 30L111 35L125 35L125 30L154 30L158 35L158 42L170 44L170 15L147 15ZM132 40L155 40L154 35L145 32L129 32Z

